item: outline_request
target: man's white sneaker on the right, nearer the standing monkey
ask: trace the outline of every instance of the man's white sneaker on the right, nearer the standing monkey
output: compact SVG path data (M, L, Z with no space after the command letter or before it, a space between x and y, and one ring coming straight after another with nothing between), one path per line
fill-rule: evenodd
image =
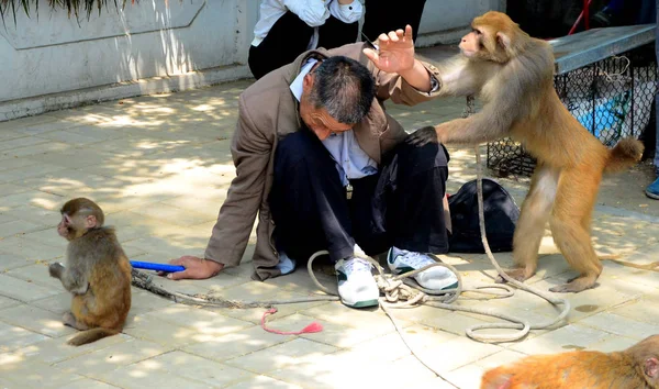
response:
M392 247L387 255L389 268L392 273L398 275L421 269L434 263L435 260L425 254L407 252L395 247ZM412 278L414 278L422 287L432 290L451 289L458 286L458 278L456 275L448 268L442 266L431 267L416 276L412 276Z

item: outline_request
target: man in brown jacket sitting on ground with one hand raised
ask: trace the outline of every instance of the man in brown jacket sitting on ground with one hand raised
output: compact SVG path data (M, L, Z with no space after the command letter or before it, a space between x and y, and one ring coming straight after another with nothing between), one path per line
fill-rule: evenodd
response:
M434 98L437 69L415 59L412 29L367 44L309 51L266 75L239 98L232 143L236 177L220 210L204 259L183 256L171 279L208 278L237 266L258 213L254 278L294 269L330 252L338 292L349 307L378 303L371 265L361 254L389 251L394 273L448 252L447 151L429 136L412 145L383 102ZM433 131L434 134L434 131ZM414 277L428 289L456 286L432 267Z

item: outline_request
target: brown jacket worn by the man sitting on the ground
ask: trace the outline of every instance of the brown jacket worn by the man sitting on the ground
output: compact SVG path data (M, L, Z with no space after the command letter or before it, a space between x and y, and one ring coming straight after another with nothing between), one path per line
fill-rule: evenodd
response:
M279 255L272 237L276 225L270 215L268 194L272 186L277 144L283 136L301 127L298 100L289 87L306 58L343 55L359 60L371 70L376 79L377 97L370 112L353 130L359 146L376 163L379 164L382 154L404 138L403 127L384 112L383 101L391 99L394 103L414 105L433 99L435 93L416 90L398 74L380 71L362 54L365 47L364 43L355 43L331 51L320 48L305 52L292 64L269 73L243 91L238 103L238 122L231 145L236 177L220 209L205 249L206 259L227 267L237 266L258 214L253 256L255 271L252 278L265 280L280 275L276 268ZM425 63L424 66L435 79L440 79L434 66Z

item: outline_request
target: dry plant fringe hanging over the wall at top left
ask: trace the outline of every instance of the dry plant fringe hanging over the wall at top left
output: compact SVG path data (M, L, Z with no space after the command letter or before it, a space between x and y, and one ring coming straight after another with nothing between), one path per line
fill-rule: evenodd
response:
M130 0L135 3L136 0ZM79 18L80 13L86 13L87 18L91 15L91 12L98 10L99 14L103 8L108 8L109 4L114 4L115 9L119 9L120 4L123 9L129 0L48 0L48 5L52 10L64 9L68 12L68 16L75 15ZM13 14L14 23L16 22L16 12L25 12L30 16L30 12L34 10L34 13L38 16L38 3L40 0L0 0L0 16L4 21L4 15L8 13Z

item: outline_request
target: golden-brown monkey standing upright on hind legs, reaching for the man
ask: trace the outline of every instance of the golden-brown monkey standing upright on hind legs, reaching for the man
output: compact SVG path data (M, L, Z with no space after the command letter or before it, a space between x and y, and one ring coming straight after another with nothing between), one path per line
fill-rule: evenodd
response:
M410 142L427 142L435 133L444 144L479 144L504 136L522 142L538 164L513 238L517 268L509 274L520 281L535 274L549 221L556 245L579 271L568 284L549 290L592 288L602 271L590 236L602 174L636 164L643 144L624 138L610 151L570 114L554 89L550 44L528 36L501 12L476 18L472 29L460 42L461 54L438 65L440 93L478 96L483 109L467 119L422 129Z

